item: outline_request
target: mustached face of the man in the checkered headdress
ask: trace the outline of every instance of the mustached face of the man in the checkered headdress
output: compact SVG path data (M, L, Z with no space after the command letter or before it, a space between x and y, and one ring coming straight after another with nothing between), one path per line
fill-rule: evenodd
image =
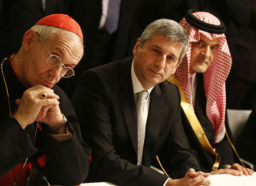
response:
M210 40L200 33L200 40L191 43L190 74L204 73L214 61L219 48L219 38Z

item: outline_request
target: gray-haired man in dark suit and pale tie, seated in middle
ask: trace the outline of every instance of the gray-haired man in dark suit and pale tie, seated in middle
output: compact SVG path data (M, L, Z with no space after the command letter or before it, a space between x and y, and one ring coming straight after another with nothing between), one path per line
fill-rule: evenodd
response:
M72 101L93 152L88 181L209 185L207 173L195 172L199 166L184 135L179 90L165 81L187 47L185 30L159 19L137 39L134 57L83 73ZM170 177L184 178L170 179L150 169L156 155L165 160Z

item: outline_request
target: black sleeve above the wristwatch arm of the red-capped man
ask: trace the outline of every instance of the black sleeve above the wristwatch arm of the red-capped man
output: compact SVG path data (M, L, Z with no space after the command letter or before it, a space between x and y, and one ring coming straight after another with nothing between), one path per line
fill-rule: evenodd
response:
M68 119L67 124L73 137L58 142L43 129L42 140L47 157L46 177L51 184L80 184L89 172L91 149L82 140L79 123L67 95L57 86L54 87L54 92L60 97L60 110Z

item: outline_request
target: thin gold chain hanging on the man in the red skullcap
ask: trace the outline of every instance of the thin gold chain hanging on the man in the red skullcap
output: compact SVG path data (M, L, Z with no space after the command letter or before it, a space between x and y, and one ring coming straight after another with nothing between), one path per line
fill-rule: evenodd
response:
M7 58L5 58L5 59L3 60L3 62L1 63L1 71L2 71L2 75L3 75L3 79L4 79L4 83L5 83L5 88L6 88L6 93L7 93L7 98L8 98L9 113L10 113L10 117L12 118L12 112L11 112L11 104L10 104L9 92L8 92L7 83L6 83L6 80L5 80L5 75L4 75L4 70L3 70L3 63L4 63L4 61L5 61L6 59L7 59ZM36 125L36 129L35 129L35 134L34 134L33 146L34 146L34 144L35 144L35 138L36 138L37 128L38 128L38 124L39 124L38 121L36 122L36 124L37 124L37 125ZM17 174L16 174L16 167L14 168L14 169L15 169L15 181L14 181L13 185L17 185L18 178L19 178L20 174L22 173L22 171L23 171L25 165L27 164L27 162L28 162L28 157L26 158L25 163L24 163L22 169L19 171L18 176L17 176Z

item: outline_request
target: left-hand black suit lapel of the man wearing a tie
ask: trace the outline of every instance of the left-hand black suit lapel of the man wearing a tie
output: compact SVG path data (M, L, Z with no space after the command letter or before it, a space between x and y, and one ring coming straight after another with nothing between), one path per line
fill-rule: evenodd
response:
M133 84L131 77L131 65L133 58L124 60L121 65L119 74L119 86L120 94L119 98L122 104L123 115L131 137L133 147L136 151L138 150L138 139L137 139L137 114L133 93Z

